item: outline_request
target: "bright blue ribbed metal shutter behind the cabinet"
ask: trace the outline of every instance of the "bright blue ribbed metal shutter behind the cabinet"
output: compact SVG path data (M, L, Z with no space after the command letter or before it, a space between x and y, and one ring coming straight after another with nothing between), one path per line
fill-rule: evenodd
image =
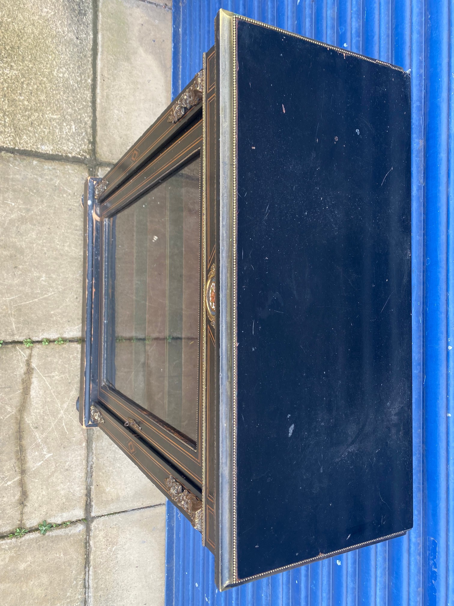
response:
M454 0L173 0L173 96L202 67L220 7L411 70L414 527L221 594L214 558L168 503L166 606L454 606Z

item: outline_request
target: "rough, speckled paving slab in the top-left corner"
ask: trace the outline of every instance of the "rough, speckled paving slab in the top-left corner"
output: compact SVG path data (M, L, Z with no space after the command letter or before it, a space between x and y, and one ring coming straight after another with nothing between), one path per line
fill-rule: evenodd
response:
M2 147L92 155L92 5L2 2Z

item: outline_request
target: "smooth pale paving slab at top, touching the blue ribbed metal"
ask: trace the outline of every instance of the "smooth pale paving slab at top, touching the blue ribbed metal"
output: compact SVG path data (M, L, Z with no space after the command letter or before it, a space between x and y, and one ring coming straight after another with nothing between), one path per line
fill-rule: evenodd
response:
M96 158L116 162L169 104L171 39L169 7L100 0Z

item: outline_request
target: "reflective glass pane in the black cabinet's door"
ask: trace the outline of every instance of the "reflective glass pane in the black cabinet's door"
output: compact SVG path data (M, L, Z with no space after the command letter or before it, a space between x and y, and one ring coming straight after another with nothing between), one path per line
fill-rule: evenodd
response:
M106 381L197 442L200 155L111 219Z

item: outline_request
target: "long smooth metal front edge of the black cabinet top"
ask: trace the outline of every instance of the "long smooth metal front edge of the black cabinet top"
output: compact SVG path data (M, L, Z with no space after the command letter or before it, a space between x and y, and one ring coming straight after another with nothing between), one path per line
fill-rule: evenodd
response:
M216 335L219 335L219 398L217 397L216 427L216 574L217 584L222 590L235 582L235 537L234 537L234 430L235 430L235 376L234 350L236 333L234 330L234 49L232 32L232 13L220 10L217 16L217 59L216 81L219 82L219 99L216 99L219 125L217 126L217 148L219 158L216 161L219 175L217 196L219 196L219 259L217 271L217 316ZM219 137L219 138L218 138ZM219 516L219 517L218 517Z

